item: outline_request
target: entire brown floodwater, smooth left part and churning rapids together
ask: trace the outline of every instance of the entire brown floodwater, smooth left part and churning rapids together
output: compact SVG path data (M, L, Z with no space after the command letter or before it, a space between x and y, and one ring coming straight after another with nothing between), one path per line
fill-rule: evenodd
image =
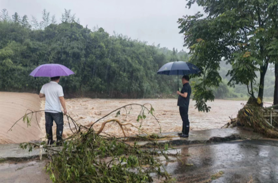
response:
M10 127L22 116L27 109L39 111L44 109L44 100L40 100L38 95L27 93L7 93L0 92L0 144L4 143L19 143L30 140L38 140L45 137L45 118L44 113L38 113L37 119L41 130L37 125L35 116L31 121L31 127L27 128L27 124L19 121L13 128L13 131L7 132ZM141 125L141 129L148 133L161 132L178 132L181 131L182 121L179 116L176 99L89 99L78 98L66 100L68 114L79 124L89 125L94 123L110 112L128 104L146 104L149 103L154 108L154 116L157 121L146 111L146 119L137 122L137 116L141 111L140 106L132 106L121 110L121 115L115 117L116 113L111 114L104 120L99 121L94 125L95 130L99 130L102 123L108 119L119 119L123 123L131 123L137 127ZM211 107L209 113L198 112L195 109L195 101L190 101L189 120L191 130L204 130L212 128L220 128L224 126L229 117L235 118L238 110L242 108L242 104L246 101L229 101L215 100L208 102ZM146 106L150 109L150 106ZM129 113L130 110L130 113ZM128 115L126 115L129 113ZM53 134L56 132L54 123ZM71 123L71 127L73 124ZM126 135L138 134L138 129L130 125L125 126ZM116 122L109 123L105 126L103 132L113 134L115 136L123 136L121 128ZM64 133L67 136L71 133L66 117L64 117ZM142 132L141 132L142 133ZM55 139L55 137L54 137Z

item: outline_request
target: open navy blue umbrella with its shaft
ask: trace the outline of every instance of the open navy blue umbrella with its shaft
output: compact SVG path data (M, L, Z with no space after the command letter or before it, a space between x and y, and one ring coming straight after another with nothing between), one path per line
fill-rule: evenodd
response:
M200 69L189 62L175 61L164 64L158 71L157 74L165 75L177 75L177 90L178 90L178 75L198 74Z

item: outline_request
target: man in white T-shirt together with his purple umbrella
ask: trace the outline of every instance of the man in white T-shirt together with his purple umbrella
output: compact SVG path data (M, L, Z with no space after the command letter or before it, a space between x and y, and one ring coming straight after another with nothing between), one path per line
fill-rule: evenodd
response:
M50 77L51 81L42 86L40 91L40 98L45 97L45 130L48 138L48 144L54 143L52 126L53 120L56 123L56 138L57 145L62 142L63 128L64 128L64 117L61 110L61 105L64 109L64 114L66 111L66 102L64 99L63 88L58 82L60 81L60 76L68 76L74 74L69 68L61 64L43 64L35 68L31 72L33 77Z

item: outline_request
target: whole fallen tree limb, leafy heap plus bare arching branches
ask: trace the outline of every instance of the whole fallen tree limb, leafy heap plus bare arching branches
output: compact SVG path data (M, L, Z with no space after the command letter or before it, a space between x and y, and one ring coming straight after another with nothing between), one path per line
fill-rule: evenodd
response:
M137 104L127 106L132 105ZM119 113L119 110L126 109L127 106L116 109L110 114ZM150 109L145 105L139 106L142 107L142 110L153 111L151 106ZM37 112L27 113L23 120L26 120L31 113ZM140 112L140 115L145 116L143 111ZM172 147L166 143L157 142L157 139L166 137L152 134L150 138L139 135L115 138L107 133L100 134L94 131L94 124L88 128L77 124L68 115L67 119L68 123L71 120L75 128L69 126L73 133L67 139L62 140L60 148L55 147L56 143L48 146L44 141L20 144L20 148L29 149L29 152L33 148L40 147L50 153L51 161L46 164L46 171L53 182L137 183L153 182L154 177L161 182L173 182L174 179L165 170L163 161L169 161L169 156L177 157L178 153L170 153L168 150ZM127 140L134 141L134 145L128 143ZM142 140L148 140L150 145L144 147L138 145L137 142Z

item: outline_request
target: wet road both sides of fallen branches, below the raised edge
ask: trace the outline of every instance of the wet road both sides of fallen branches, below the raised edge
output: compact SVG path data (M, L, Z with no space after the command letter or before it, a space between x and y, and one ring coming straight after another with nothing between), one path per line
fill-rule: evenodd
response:
M165 164L177 182L278 182L278 141L245 140L187 145L176 149L180 160ZM46 160L0 163L0 182L51 182L43 169ZM223 171L221 177L211 176Z

